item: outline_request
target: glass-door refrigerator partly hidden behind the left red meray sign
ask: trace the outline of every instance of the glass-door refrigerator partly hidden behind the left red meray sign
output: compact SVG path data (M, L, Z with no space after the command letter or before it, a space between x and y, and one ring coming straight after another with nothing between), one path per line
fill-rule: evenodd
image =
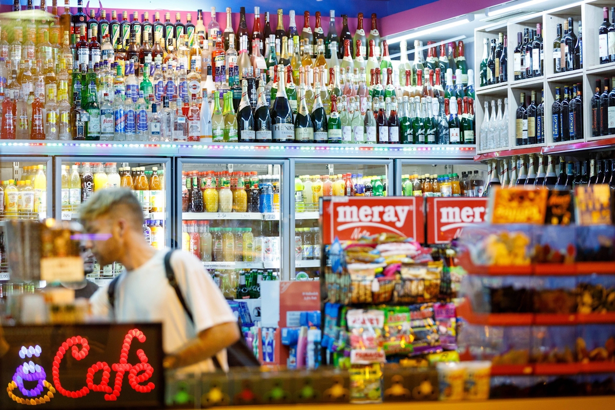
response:
M320 277L319 198L392 195L393 160L291 159L295 200L290 204L291 279Z

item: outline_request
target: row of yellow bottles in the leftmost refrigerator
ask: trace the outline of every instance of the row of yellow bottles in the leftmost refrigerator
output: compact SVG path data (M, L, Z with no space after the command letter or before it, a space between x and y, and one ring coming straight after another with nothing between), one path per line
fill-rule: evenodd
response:
M0 184L2 219L38 219L47 212L46 165L26 166L18 181L7 179Z

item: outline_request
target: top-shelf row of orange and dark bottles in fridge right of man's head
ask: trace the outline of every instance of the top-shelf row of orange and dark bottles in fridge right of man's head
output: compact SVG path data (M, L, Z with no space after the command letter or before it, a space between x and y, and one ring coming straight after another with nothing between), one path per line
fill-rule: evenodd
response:
M280 176L256 171L182 171L183 212L274 212Z

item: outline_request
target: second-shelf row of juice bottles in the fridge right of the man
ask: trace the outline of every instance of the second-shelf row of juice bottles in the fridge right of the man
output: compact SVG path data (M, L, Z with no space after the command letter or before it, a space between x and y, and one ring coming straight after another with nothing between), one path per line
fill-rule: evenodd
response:
M210 221L183 221L182 248L204 262L279 262L276 225L260 221L260 229L253 232L252 227L210 227Z

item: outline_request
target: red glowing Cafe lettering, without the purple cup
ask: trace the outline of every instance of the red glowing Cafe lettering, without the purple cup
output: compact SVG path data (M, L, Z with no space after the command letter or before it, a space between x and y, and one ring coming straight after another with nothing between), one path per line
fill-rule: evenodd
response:
M132 339L137 338L141 343L145 342L145 334L141 332L139 329L132 329L129 333L124 337L124 344L122 345L122 350L119 357L119 363L113 363L111 368L106 362L98 362L92 365L87 370L87 376L85 377L85 381L87 386L82 387L79 390L74 392L70 392L62 387L60 384L60 363L62 362L62 358L64 357L66 350L71 348L71 353L76 360L81 360L85 358L90 349L87 344L87 340L81 336L74 336L69 339L66 339L66 342L60 346L58 352L54 358L54 365L52 369L52 376L54 378L54 385L58 393L66 397L79 398L87 395L90 390L93 392L105 392L105 400L113 401L117 400L121 391L122 391L122 382L124 380L124 373L128 372L128 382L130 387L140 393L149 393L155 385L152 382L149 382L146 385L141 385L140 383L148 380L151 375L154 373L154 368L148 363L148 357L145 355L142 349L137 350L137 357L140 360L140 363L137 365L131 365L128 363L128 353L130 351L130 344L132 344ZM77 348L76 345L81 345L81 350ZM98 371L103 371L103 376L100 384L94 384L93 379L94 375ZM116 377L114 381L113 388L109 387L109 377L111 376L111 370L116 372ZM142 374L139 374L143 372Z

